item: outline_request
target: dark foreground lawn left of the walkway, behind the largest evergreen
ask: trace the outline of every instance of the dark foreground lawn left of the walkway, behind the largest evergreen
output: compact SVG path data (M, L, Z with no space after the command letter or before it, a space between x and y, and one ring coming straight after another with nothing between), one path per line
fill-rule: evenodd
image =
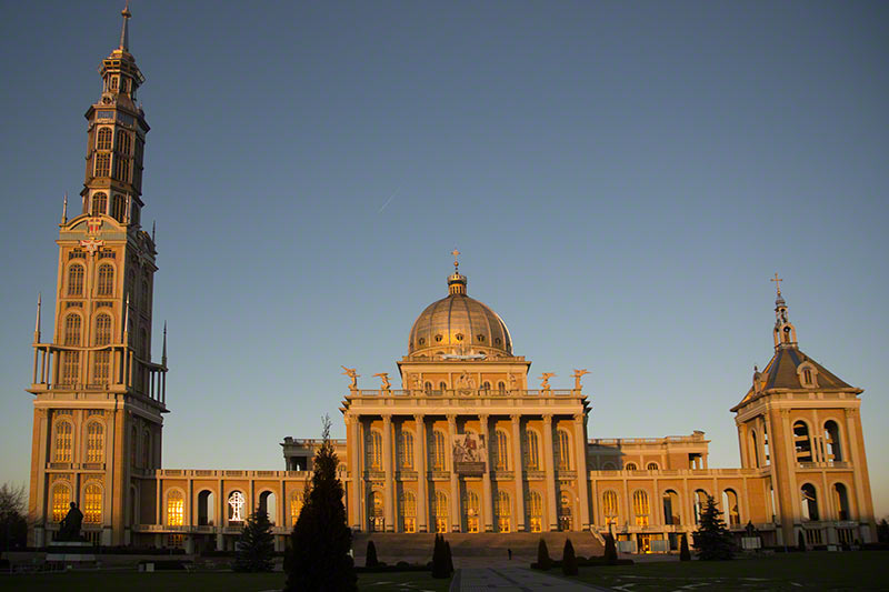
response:
M27 590L29 592L64 591L94 592L121 590L123 592L259 592L281 590L283 573L233 573L233 572L153 572L99 571L0 575L0 590ZM450 580L433 580L426 572L362 573L358 576L359 590L392 592L410 590L448 590Z

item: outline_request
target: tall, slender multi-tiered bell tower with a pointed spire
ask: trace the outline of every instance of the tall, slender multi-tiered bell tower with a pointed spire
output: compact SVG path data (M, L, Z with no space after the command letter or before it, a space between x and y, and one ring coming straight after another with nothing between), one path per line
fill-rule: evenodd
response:
M160 468L167 412L167 338L151 360L153 235L140 224L142 157L149 131L136 93L144 82L129 50L129 8L120 42L102 60L102 89L86 112L86 179L80 211L59 224L54 329L34 327L34 395L29 543L52 540L70 502L94 543L127 544L148 479ZM152 232L153 234L153 232ZM146 486L143 486L143 482ZM149 505L150 508L151 505Z

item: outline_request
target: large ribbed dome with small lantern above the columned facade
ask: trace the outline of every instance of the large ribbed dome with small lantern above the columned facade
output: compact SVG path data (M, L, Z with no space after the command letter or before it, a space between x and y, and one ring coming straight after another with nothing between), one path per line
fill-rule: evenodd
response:
M466 277L448 278L447 298L429 304L410 330L409 355L512 355L507 324L490 308L466 295Z

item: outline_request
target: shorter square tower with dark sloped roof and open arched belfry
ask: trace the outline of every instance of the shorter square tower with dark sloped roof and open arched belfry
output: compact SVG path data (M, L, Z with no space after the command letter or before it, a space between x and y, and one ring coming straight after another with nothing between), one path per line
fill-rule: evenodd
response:
M732 411L741 465L765 478L766 508L778 540L807 546L876 540L861 389L800 351L778 274L775 353Z

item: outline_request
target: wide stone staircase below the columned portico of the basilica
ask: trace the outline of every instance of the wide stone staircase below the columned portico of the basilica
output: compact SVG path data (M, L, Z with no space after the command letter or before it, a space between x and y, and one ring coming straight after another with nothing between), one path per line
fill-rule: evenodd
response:
M566 539L571 540L575 554L598 556L605 553L602 543L589 532L513 532L513 533L450 533L444 540L451 545L451 555L458 558L496 558L506 559L509 550L516 558L537 558L537 545L540 539L547 542L549 555L561 559ZM373 541L377 548L377 559L390 565L399 561L408 563L426 563L432 560L432 546L436 535L433 533L354 533L352 549L354 550L356 565L364 565L364 554L368 541Z

